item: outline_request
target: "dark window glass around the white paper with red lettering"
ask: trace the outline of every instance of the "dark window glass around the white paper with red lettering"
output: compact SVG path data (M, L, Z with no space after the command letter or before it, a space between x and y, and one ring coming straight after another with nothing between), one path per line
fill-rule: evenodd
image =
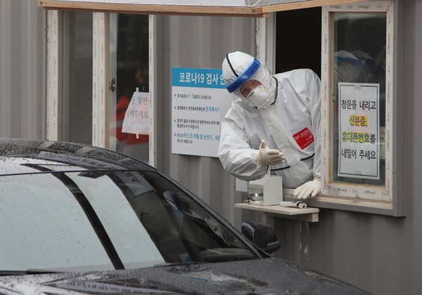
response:
M148 162L148 135L122 133L124 115L134 91L149 91L148 15L119 14L111 18L116 34L110 38L116 96L110 101L110 149Z

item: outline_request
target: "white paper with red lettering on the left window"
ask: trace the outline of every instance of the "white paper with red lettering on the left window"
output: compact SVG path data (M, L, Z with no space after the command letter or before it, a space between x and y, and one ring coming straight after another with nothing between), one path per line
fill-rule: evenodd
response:
M134 92L126 113L124 114L122 132L149 134L149 93Z

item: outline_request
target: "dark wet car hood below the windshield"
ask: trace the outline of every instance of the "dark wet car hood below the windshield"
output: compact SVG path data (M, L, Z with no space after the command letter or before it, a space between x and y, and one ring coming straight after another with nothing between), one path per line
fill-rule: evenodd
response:
M334 280L279 258L168 265L135 270L110 270L91 273L58 273L0 277L8 291L31 284L48 286L49 294L63 294L63 289L98 294L155 294L151 289L172 294L368 294L345 282ZM174 293L173 293L174 292ZM79 293L78 293L79 294Z

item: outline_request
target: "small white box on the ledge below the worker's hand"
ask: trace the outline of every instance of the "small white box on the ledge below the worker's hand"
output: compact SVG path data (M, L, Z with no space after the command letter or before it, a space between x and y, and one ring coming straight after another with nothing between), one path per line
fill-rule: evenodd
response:
M248 185L249 204L277 205L283 201L283 178L281 176L264 176Z

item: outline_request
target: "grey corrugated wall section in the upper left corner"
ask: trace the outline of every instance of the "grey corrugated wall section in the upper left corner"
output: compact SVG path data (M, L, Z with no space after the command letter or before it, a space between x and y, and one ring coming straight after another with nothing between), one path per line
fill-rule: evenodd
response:
M45 138L46 13L0 1L0 136Z

